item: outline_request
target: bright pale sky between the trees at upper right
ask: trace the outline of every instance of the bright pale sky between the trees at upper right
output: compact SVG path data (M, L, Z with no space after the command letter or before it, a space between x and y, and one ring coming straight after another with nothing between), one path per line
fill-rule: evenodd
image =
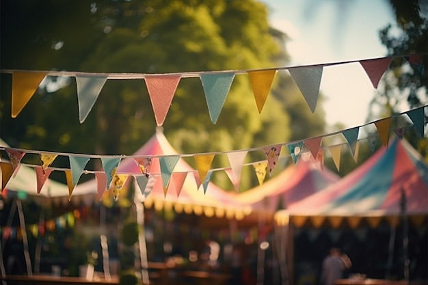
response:
M379 30L394 24L386 0L262 0L269 21L290 38L290 66L346 62L384 57ZM321 92L330 126L366 123L375 89L358 62L323 69Z

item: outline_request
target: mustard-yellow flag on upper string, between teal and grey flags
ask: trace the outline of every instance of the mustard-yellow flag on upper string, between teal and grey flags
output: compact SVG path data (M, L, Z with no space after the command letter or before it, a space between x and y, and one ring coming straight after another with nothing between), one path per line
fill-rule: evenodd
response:
M258 113L261 113L263 106L265 106L266 98L271 90L275 74L276 70L258 70L248 72L254 98L256 99Z

